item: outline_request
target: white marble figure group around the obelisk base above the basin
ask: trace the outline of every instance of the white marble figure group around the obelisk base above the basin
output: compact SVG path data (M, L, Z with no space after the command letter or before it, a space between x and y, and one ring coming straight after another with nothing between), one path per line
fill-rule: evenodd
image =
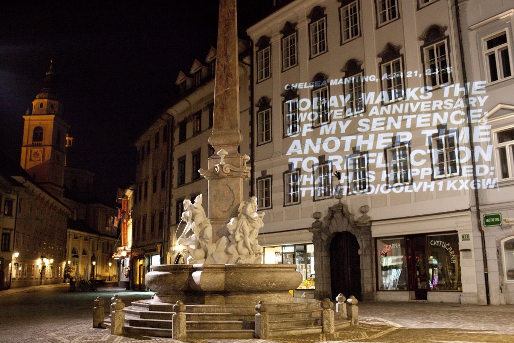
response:
M257 241L259 230L264 226L264 213L257 213L257 198L243 201L237 218L227 224L228 237L212 242L211 222L201 206L202 195L194 203L184 200L182 221L186 222L178 244L186 246L183 258L187 264L207 263L261 263L262 247Z

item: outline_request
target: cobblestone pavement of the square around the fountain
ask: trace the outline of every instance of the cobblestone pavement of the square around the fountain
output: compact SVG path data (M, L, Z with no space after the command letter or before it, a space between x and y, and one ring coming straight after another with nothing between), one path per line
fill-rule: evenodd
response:
M0 342L175 342L142 336L112 336L93 329L93 300L119 294L128 304L150 292L109 285L97 292L69 293L49 285L0 292ZM260 339L205 339L189 343L463 343L514 342L514 305L479 306L440 303L360 302L360 325L333 335L313 334Z

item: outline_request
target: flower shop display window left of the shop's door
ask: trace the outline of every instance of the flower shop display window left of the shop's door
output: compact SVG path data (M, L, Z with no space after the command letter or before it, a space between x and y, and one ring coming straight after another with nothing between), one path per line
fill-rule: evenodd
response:
M407 290L405 239L377 239L378 290Z

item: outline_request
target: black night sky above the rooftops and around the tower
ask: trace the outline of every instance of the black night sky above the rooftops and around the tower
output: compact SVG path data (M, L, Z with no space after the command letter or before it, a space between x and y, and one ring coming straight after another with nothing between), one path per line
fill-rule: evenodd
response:
M240 31L271 5L239 0ZM53 58L74 137L68 165L93 171L113 203L134 179L132 144L176 94L178 71L216 46L217 9L216 0L0 2L0 150L20 159L22 115Z

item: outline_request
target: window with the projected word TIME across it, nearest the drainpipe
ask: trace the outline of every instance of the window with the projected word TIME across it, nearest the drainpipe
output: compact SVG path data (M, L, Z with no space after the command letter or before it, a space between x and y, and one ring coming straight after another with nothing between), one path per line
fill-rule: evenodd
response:
M434 178L456 176L460 174L457 160L457 131L432 137L432 168Z

